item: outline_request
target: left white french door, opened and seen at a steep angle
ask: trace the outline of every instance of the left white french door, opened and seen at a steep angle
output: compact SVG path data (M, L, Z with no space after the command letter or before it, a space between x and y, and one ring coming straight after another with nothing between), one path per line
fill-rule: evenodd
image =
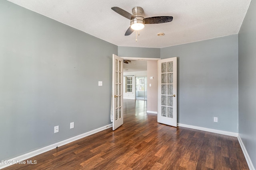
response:
M123 59L113 54L112 66L113 131L124 123L123 117Z

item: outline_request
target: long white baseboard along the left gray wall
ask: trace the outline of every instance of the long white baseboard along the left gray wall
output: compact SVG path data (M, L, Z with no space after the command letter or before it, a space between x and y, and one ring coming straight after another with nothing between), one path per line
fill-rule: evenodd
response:
M60 146L62 146L62 145L66 145L66 144L68 144L68 143L71 143L71 142L76 141L76 140L78 140L78 139L81 139L81 138L83 138L83 137L87 137L87 136L92 135L92 134L94 134L94 133L97 133L97 132L103 131L103 130L105 130L105 129L108 129L108 128L110 128L110 127L112 127L112 124L109 124L109 125L100 127L100 128L98 128L98 129L94 129L94 130L92 130L92 131L83 133L83 134L81 134L81 135L77 135L77 136L75 136L75 137L72 137L72 138L70 138L70 139L66 139L66 140L64 140L64 141L60 141L60 142L54 143L54 144L49 145L49 146L47 146L47 147L43 147L43 148L34 150L34 151L32 151L32 152L28 152L28 153L26 153L26 154L23 154L23 155L20 155L20 156L15 157L15 158L12 158L12 159L10 159L10 160L7 160L6 162L18 162L18 161L26 160L26 159L31 158L31 157L33 157L33 156L36 156L36 155L42 154L42 153L44 153L44 152L47 152L47 151L49 151L49 150L52 150L52 149L56 148L57 146L60 147ZM11 165L12 165L12 164L0 164L0 169L6 168L7 166L11 166Z

